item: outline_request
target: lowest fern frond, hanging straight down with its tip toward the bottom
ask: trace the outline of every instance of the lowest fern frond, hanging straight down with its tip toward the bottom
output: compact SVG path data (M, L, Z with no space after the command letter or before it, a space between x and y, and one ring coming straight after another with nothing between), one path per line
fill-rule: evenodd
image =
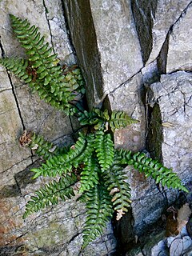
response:
M83 244L85 248L89 242L102 234L106 223L113 215L111 197L102 182L86 191L86 224L82 232Z

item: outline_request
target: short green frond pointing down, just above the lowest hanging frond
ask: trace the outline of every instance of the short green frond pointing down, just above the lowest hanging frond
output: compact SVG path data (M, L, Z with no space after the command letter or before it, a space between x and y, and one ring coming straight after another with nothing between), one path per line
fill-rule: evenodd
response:
M91 187L98 184L99 171L98 162L96 162L95 158L90 155L81 172L81 187L79 193L83 193L85 190L90 190Z

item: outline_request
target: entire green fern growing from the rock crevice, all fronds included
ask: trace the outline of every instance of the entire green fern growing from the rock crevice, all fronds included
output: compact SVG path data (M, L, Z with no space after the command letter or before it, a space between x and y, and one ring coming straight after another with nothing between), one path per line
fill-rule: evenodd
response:
M37 134L25 133L20 138L22 146L29 146L45 162L32 169L34 178L48 176L53 179L36 191L26 203L23 218L58 204L74 196L74 185L79 182L78 200L86 204L86 223L82 248L102 234L106 222L116 212L119 220L130 207L130 186L126 182L125 167L134 166L146 177L154 178L162 186L186 191L171 169L145 154L114 148L113 133L116 129L136 123L125 112L114 110L82 110L79 99L85 93L82 74L77 66L64 71L58 65L57 55L44 43L36 26L10 15L15 36L26 49L27 59L2 58L0 63L37 91L40 98L68 115L75 114L86 132L70 148L58 148ZM80 108L81 106L81 108ZM77 188L76 188L77 189Z

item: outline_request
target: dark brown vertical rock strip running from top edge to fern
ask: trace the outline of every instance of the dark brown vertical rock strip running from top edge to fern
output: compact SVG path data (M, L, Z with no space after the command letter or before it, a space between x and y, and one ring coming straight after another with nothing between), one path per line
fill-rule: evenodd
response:
M70 39L86 80L86 99L91 109L103 97L101 59L89 0L62 1Z

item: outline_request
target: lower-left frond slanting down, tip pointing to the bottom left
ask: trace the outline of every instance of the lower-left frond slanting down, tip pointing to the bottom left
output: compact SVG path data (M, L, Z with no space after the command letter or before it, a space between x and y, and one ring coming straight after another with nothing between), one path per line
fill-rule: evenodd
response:
M58 182L50 182L40 190L35 192L35 196L30 198L30 201L26 203L26 211L23 214L23 218L26 218L29 214L38 212L46 206L56 205L59 199L66 201L66 198L74 196L74 190L72 185L77 182L77 178L74 174L66 175L66 177L60 178Z

